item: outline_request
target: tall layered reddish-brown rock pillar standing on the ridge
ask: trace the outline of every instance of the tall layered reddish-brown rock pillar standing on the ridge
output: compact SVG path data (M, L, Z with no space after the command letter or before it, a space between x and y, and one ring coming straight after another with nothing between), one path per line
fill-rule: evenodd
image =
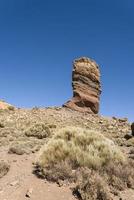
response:
M100 71L95 61L81 57L73 62L73 98L63 106L97 114L101 94Z

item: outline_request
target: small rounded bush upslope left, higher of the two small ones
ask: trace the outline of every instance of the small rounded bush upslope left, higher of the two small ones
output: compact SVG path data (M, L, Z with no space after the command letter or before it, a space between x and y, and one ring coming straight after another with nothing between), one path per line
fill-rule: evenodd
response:
M50 133L49 127L43 123L36 123L25 131L27 137L36 137L38 139L49 137Z

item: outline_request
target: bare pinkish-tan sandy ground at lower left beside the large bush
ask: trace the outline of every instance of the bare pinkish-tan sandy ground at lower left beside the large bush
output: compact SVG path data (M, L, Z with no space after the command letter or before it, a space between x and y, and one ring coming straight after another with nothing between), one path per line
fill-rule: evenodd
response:
M1 153L1 159L8 160L11 168L0 179L0 200L75 200L68 186L45 182L32 173L34 157ZM30 197L26 197L27 191Z

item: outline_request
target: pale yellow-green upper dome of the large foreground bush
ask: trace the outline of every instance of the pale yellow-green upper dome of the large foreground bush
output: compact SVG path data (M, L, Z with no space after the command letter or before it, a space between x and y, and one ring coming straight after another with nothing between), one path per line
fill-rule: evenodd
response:
M38 164L54 166L68 160L72 168L99 169L110 161L124 162L123 153L114 143L98 132L67 127L58 131L41 151Z

